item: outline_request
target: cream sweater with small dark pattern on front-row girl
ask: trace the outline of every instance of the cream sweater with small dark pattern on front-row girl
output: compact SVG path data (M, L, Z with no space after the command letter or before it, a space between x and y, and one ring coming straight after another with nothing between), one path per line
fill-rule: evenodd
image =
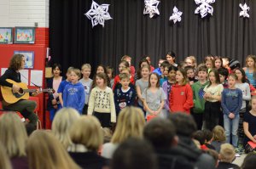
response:
M113 91L110 87L102 90L94 87L90 93L88 115L96 111L99 113L110 113L111 122L116 122L116 113L113 101Z

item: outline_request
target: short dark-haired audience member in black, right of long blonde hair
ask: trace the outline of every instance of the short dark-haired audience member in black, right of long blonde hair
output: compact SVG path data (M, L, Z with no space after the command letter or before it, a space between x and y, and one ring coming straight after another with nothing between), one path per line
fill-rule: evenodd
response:
M153 145L160 169L194 168L192 163L172 149L177 146L178 140L175 130L171 121L154 118L145 126L143 135Z

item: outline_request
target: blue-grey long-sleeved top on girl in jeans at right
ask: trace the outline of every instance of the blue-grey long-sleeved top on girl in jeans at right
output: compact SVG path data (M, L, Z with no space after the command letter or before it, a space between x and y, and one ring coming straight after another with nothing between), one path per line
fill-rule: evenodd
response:
M221 106L224 115L230 115L230 113L239 115L239 111L241 110L241 104L242 92L239 88L224 88L221 96Z

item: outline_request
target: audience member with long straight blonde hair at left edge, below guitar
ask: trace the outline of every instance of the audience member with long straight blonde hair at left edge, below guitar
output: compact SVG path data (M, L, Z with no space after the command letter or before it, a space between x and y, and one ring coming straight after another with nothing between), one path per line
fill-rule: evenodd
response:
M26 128L15 112L4 113L0 117L0 143L6 149L13 168L28 168L26 158Z

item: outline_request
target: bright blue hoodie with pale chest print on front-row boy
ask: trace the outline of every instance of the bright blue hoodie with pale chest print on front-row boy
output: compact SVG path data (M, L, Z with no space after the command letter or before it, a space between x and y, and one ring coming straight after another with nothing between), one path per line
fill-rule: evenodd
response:
M68 83L63 92L63 107L72 107L82 114L84 103L85 93L82 83Z

